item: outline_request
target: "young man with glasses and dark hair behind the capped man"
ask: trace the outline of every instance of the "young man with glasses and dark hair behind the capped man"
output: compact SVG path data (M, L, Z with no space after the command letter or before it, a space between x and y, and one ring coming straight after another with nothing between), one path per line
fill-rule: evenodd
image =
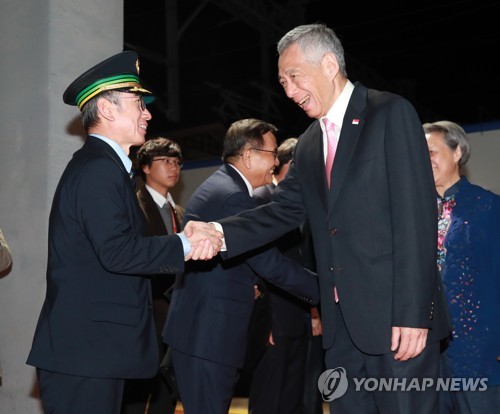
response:
M146 236L164 236L182 230L184 209L176 205L170 190L178 183L182 152L179 144L168 138L147 140L136 152L135 159L144 185L137 190L137 200L146 219ZM161 330L167 318L167 291L175 277L151 276L153 317L160 359L167 351ZM177 401L165 378L158 372L151 379L128 380L125 383L122 414L173 414Z

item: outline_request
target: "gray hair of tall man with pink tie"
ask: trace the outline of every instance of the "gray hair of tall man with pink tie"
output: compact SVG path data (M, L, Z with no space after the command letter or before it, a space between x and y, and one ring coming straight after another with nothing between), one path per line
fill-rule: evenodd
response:
M347 77L344 48L335 32L321 23L297 26L285 34L278 42L278 53L298 44L306 60L310 63L319 63L325 53L332 52L339 63L340 73Z

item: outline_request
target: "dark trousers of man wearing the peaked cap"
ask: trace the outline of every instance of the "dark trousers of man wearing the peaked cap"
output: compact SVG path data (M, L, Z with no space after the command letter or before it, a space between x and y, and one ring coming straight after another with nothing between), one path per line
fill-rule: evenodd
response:
M124 380L37 369L45 414L119 414Z

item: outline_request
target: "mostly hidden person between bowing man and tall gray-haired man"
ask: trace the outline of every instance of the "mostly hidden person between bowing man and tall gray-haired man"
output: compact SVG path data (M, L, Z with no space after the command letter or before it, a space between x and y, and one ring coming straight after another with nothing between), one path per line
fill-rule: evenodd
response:
M279 164L274 168L273 182L254 192L254 198L262 204L270 201L276 185L285 178L297 141L297 138L288 138L278 147ZM310 246L306 228L308 226L303 225L287 233L276 245L286 256L314 270L313 252L305 250ZM272 284L268 284L267 289L271 335L252 373L248 409L253 414L302 414L308 338L321 335L321 323L317 324L319 320L314 318L312 328L310 306ZM312 312L319 317L316 307ZM315 392L318 393L316 386Z

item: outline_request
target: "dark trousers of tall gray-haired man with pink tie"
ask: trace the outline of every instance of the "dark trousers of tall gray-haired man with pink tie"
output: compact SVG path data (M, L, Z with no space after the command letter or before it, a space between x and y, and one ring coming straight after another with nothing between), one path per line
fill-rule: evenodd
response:
M344 368L348 388L344 395L330 402L331 414L435 414L438 395L435 387L425 391L399 385L391 390L376 387L380 379L397 379L398 384L409 385L411 380L423 383L432 379L436 384L439 374L439 342L428 345L417 357L408 361L394 360L394 354L368 355L352 342L337 304L336 335L333 346L326 351L326 368ZM389 347L389 344L387 345ZM358 386L356 386L356 381ZM365 379L366 387L359 381ZM358 390L357 390L358 388Z

